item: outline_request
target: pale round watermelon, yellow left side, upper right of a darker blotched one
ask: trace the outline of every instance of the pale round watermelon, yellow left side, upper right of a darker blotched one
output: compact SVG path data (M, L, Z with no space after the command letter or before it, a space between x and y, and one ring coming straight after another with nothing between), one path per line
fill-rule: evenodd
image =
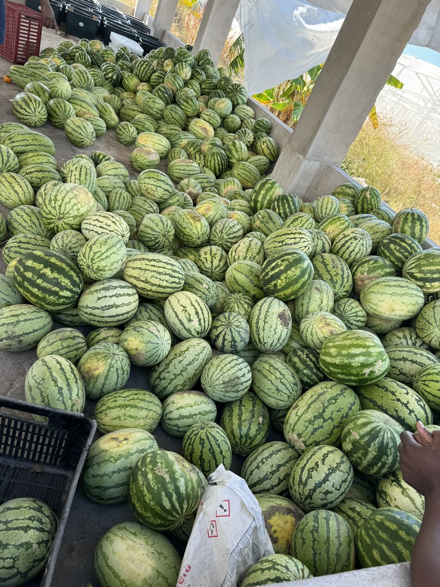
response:
M151 366L168 355L171 336L162 323L140 320L126 326L118 343L133 365Z

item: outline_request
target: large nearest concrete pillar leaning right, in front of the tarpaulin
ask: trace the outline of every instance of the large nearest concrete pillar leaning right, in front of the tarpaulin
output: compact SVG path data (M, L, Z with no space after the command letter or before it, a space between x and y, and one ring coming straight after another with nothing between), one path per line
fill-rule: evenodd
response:
M328 168L339 166L346 156L428 4L429 0L353 0L272 172L286 191L307 200L330 192Z

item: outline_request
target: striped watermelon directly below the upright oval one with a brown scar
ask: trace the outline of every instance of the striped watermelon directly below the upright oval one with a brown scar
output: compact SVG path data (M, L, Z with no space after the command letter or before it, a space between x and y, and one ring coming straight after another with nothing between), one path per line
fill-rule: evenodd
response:
M301 394L301 383L287 363L262 356L252 365L252 390L266 406L287 409Z

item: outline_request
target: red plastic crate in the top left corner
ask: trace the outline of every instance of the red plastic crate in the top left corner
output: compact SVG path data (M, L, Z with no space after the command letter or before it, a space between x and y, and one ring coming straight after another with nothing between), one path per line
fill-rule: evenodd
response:
M42 16L15 2L5 4L5 44L0 45L0 55L12 63L25 63L40 53Z

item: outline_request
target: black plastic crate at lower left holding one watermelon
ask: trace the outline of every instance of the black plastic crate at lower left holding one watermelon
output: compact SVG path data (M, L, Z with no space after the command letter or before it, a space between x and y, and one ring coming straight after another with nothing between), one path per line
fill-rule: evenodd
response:
M34 415L46 417L47 423L32 420ZM59 519L45 570L24 587L50 586L95 430L96 422L82 414L0 396L0 504L33 497L44 501Z

